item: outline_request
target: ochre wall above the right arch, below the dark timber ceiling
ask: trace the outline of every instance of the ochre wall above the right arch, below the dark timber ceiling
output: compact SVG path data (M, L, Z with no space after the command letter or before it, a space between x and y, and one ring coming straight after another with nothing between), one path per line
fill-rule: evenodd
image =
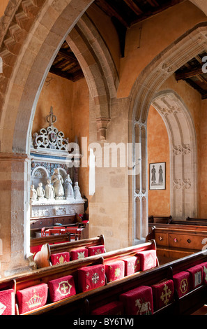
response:
M190 1L186 1L128 29L125 57L120 59L117 97L128 97L139 73L154 57L185 34L185 31L205 20L206 15Z

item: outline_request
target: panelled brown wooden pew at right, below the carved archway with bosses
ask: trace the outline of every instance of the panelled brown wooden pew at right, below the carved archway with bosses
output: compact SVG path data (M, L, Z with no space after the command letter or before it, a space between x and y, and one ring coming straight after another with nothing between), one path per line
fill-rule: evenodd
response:
M148 239L155 239L160 262L185 257L201 251L207 242L207 227L204 225L182 225L148 223Z

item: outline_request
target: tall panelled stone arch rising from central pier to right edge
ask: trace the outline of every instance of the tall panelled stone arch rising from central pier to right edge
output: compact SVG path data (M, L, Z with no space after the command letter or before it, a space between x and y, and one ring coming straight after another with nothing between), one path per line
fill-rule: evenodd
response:
M138 153L134 152L133 155L135 164L141 159L139 174L129 177L129 189L132 190L130 194L131 209L129 211L132 243L144 241L148 234L148 202L141 202L143 198L147 200L146 120L148 109L162 83L185 62L206 50L206 40L207 23L203 22L187 31L155 57L141 71L132 87L130 93L129 141L134 144L134 149L136 149L135 143L140 144L140 151ZM137 197L140 200L139 211L137 211L137 201L135 202Z

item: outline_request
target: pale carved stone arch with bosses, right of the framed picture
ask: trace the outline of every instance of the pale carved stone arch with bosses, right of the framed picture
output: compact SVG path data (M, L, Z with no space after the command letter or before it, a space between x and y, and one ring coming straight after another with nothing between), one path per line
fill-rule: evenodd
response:
M173 90L156 94L152 105L160 113L169 136L171 216L197 216L197 138L190 112Z

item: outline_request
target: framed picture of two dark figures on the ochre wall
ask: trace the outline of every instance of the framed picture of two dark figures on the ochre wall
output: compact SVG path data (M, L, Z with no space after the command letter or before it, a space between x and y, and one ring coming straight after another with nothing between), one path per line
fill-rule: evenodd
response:
M166 162L149 164L149 189L166 189Z

